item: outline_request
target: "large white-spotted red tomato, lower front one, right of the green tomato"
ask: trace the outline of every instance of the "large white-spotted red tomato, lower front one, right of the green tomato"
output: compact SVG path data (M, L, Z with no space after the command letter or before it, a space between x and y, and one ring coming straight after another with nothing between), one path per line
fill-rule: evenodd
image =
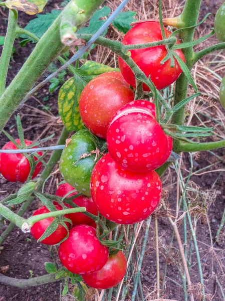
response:
M99 212L118 224L146 219L157 207L161 191L155 171L139 174L123 170L109 154L97 162L91 176L91 195Z

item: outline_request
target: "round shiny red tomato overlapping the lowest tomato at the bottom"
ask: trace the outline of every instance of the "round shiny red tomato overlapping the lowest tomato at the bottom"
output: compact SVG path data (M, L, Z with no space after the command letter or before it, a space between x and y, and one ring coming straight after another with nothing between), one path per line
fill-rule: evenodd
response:
M60 244L59 257L70 272L90 274L106 264L109 250L100 243L93 227L78 225L70 230L69 237Z

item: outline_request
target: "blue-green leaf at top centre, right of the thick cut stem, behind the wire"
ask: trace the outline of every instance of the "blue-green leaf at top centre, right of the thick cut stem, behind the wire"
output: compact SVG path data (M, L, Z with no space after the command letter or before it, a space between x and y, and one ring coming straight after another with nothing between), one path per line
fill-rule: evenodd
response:
M107 17L111 13L111 9L107 6L104 6L101 10L98 10L92 16L89 26L83 27L77 31L78 34L90 34L94 35L106 22L106 20L100 20L100 18ZM108 28L104 31L101 36L105 36L107 34Z

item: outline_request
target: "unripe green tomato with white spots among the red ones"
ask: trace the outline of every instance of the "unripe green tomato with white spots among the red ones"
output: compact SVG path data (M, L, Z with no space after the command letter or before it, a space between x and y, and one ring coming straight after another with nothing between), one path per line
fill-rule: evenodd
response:
M95 154L90 155L90 152L95 149L90 132L81 129L64 148L59 165L64 180L88 197L91 196L90 178L96 157Z

